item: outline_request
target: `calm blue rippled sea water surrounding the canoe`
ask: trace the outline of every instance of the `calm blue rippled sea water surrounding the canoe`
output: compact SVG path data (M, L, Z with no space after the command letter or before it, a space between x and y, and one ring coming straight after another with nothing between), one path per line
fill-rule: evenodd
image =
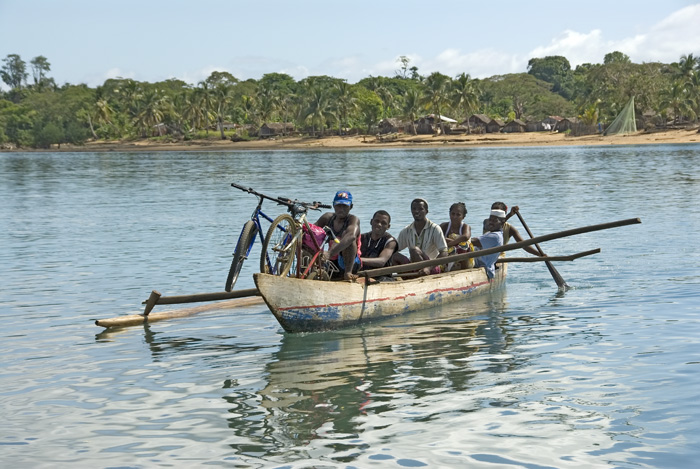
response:
M699 145L1 153L0 461L695 467L699 167ZM495 200L535 235L643 223L546 243L603 250L558 264L565 293L513 264L474 302L338 332L286 334L256 305L101 333L152 289L222 290L256 202L234 181L309 201L349 189L365 230L383 208L394 233L418 196L437 222L466 202L477 231Z

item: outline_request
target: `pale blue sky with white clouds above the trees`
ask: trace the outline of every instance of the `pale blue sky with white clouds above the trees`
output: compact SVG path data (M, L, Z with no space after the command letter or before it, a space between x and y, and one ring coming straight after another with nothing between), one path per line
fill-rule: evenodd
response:
M401 56L421 75L487 78L526 72L534 57L575 68L613 51L635 63L700 56L700 2L0 0L0 60L18 54L31 80L44 56L58 85L194 85L213 71L356 83L394 76Z

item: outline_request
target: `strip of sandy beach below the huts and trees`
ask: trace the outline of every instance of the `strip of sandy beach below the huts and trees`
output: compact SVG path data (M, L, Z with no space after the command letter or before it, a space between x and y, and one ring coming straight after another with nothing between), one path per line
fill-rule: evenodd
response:
M136 141L91 141L81 146L61 145L50 150L3 149L0 152L153 152L153 151L236 151L236 150L358 150L385 148L488 148L522 146L604 146L698 143L698 128L665 130L660 132L637 132L631 135L609 136L586 135L570 137L562 133L523 132L479 135L399 135L395 140L381 141L375 136L346 137L277 137L264 140L232 142L212 136L209 140L178 142Z

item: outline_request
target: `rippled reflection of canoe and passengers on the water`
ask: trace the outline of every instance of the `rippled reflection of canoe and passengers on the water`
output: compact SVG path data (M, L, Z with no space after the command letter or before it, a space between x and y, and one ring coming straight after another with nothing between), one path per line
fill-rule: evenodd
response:
M258 454L273 456L318 438L332 439L338 451L343 443L337 440L357 438L368 414L468 388L478 373L469 357L484 348L499 353L509 342L498 327L505 294L500 288L364 327L285 334L256 396L264 409L262 415L256 412L265 440ZM241 401L228 397L236 404L231 413L239 416L230 418L229 426L249 427L241 419L250 419L252 409L241 412Z

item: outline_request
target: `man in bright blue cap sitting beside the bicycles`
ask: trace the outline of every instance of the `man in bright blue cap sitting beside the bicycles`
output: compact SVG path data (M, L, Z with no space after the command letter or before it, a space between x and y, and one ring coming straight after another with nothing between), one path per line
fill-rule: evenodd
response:
M338 267L338 276L344 280L353 280L360 268L360 219L350 214L352 194L338 191L333 198L333 212L321 215L316 225L330 228L337 242L330 243L330 248L323 252L323 259ZM351 266L351 267L347 267Z

